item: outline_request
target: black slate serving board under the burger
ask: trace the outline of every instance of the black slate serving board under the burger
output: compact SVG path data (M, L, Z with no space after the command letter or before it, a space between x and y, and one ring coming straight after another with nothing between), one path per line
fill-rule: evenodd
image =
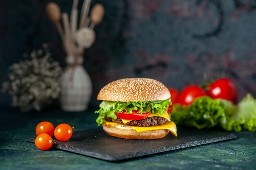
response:
M236 139L235 135L228 132L198 130L188 127L177 127L177 130L178 137L174 137L170 132L166 137L154 140L121 139L109 136L102 129L75 131L69 141L57 140L53 147L107 161L120 161L180 148ZM26 139L26 141L34 142L34 138Z

